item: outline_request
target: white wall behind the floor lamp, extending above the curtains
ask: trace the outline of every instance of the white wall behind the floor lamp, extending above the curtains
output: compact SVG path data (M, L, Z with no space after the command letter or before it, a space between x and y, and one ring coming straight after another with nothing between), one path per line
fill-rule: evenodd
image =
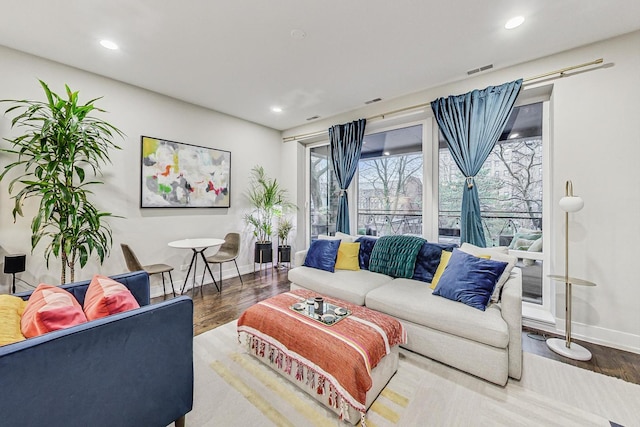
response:
M360 117L428 103L520 77L604 58L604 65L552 84L551 271L564 271L564 215L557 207L571 179L585 200L571 217L571 275L595 288L574 286L573 335L640 352L640 32L584 46L456 83L383 101L366 108L289 129L284 136L327 129ZM427 110L430 110L428 107ZM288 145L299 145L297 142ZM302 168L302 165L300 164ZM300 181L298 181L300 182ZM302 205L303 200L299 201ZM557 330L564 330L564 285L555 286Z

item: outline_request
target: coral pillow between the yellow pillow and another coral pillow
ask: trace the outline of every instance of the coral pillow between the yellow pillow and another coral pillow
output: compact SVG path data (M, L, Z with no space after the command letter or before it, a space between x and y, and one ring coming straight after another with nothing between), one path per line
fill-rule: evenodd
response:
M20 329L27 338L85 323L80 303L69 292L41 283L29 297Z

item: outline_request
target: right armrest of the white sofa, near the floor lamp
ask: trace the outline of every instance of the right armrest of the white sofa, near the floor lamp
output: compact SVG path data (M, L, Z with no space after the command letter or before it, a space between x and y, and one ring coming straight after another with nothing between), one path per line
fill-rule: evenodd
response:
M515 267L504 284L501 298L502 318L509 329L509 376L522 376L522 271Z

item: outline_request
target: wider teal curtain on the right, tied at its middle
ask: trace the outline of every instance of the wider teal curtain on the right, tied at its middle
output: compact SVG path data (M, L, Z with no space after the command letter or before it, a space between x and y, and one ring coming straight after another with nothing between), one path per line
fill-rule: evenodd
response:
M487 245L474 178L500 138L521 87L519 79L431 102L449 151L467 178L462 193L460 243Z

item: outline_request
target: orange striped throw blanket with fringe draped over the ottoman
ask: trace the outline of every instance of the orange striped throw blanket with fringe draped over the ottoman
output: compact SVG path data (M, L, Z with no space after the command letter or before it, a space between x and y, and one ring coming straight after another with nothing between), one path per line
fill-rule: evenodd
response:
M404 328L390 316L335 298L325 301L352 314L333 326L289 308L315 296L299 289L259 302L240 316L238 333L248 335L250 351L268 355L270 363L285 373L291 373L295 362L296 379L306 381L318 394L325 393L327 382L329 403L335 408L346 401L364 413L371 370L391 347L406 342Z

